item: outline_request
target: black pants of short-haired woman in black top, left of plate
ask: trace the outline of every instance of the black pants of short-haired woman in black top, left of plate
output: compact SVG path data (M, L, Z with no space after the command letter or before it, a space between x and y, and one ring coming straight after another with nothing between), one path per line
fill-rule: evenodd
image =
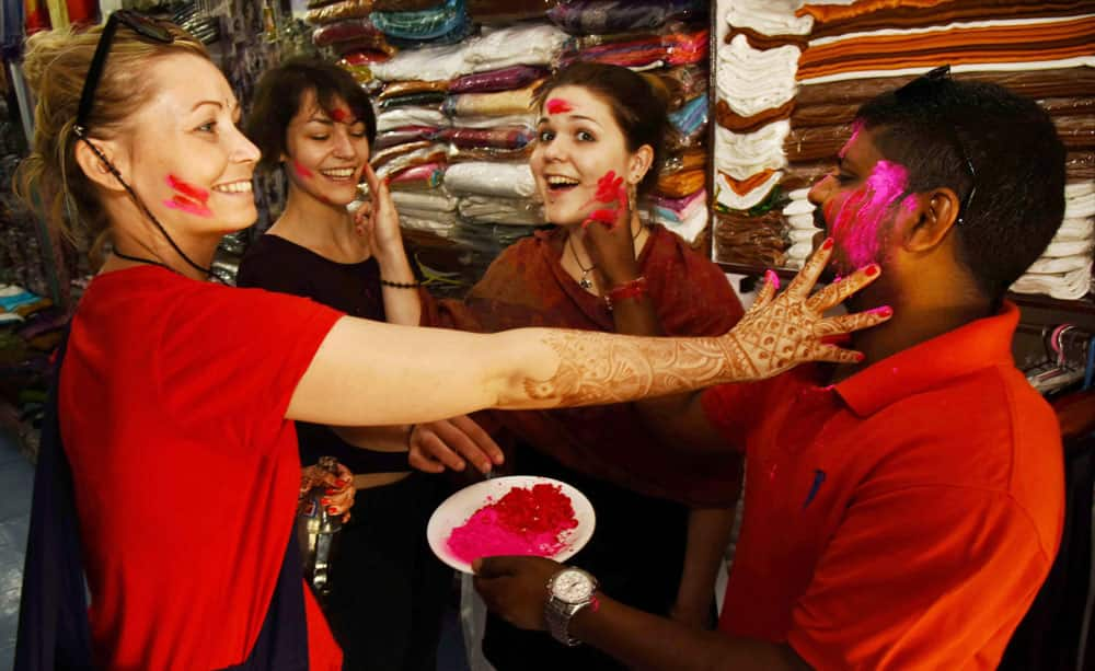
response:
M434 671L452 569L426 543L443 481L422 473L361 489L343 528L324 603L344 669Z

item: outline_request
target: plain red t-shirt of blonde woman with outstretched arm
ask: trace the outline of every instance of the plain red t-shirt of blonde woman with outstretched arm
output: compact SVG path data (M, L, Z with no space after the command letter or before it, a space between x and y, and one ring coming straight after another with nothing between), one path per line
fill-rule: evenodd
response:
M60 427L111 669L217 669L254 645L300 483L292 392L341 313L141 266L72 321ZM312 669L342 653L309 590Z

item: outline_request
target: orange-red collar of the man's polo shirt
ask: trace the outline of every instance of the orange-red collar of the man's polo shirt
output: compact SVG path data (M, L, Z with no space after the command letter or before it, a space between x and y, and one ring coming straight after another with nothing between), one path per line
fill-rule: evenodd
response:
M1019 310L1004 301L995 315L976 320L873 363L833 390L848 407L867 417L947 380L993 366L1014 366L1012 336Z

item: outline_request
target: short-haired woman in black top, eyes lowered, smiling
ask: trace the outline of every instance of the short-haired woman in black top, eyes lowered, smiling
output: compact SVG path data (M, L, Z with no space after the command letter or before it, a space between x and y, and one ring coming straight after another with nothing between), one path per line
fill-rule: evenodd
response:
M346 208L361 181L387 189L369 167L376 122L353 78L327 63L288 61L263 77L246 130L262 150L260 166L285 171L288 198L247 250L238 284L417 325L415 277L394 212L366 204L355 221ZM426 544L426 522L442 495L437 479L408 473L405 427L297 423L297 433L302 463L330 454L356 474L356 502L324 604L345 668L433 671L451 576Z

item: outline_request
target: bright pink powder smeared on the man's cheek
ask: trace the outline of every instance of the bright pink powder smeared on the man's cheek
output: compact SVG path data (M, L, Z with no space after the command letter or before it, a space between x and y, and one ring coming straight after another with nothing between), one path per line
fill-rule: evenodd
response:
M909 184L909 171L898 163L880 160L863 187L848 197L832 221L832 234L843 252L848 273L879 261L884 224L891 208ZM828 208L827 208L828 209ZM829 212L826 212L828 219Z

